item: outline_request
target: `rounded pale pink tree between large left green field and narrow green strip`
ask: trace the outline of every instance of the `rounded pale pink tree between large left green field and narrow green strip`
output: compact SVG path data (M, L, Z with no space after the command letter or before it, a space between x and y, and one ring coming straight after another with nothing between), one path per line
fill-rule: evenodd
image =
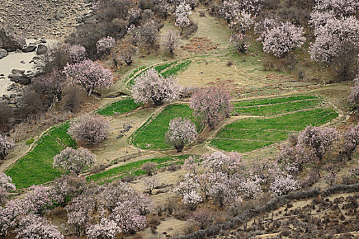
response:
M96 163L96 156L90 150L79 147L74 150L72 147L66 147L60 154L53 157L53 167L61 167L66 171L70 171L79 175L85 167L89 167Z

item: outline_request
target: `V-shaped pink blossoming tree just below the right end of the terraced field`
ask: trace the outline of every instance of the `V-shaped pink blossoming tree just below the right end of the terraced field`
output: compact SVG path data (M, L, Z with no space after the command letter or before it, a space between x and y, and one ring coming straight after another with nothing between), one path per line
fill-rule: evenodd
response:
M304 131L300 132L298 144L314 150L314 155L321 161L336 139L338 139L338 132L334 128L307 126Z

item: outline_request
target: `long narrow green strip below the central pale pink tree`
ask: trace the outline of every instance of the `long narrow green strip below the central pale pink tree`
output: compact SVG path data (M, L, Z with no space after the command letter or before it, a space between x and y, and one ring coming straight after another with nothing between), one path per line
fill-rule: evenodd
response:
M190 155L181 155L181 156L168 156L164 158L151 158L151 159L145 159L145 160L138 160L136 162L127 163L126 165L121 165L119 167L114 167L112 169L109 169L107 171L103 171L101 173L90 175L86 178L88 182L94 181L94 182L100 182L103 180L108 180L109 178L120 178L121 175L129 174L132 175L141 175L145 174L146 172L141 170L141 167L144 163L152 162L158 164L158 168L160 167L166 167L167 165L170 165L171 163L181 163L186 158L188 158Z

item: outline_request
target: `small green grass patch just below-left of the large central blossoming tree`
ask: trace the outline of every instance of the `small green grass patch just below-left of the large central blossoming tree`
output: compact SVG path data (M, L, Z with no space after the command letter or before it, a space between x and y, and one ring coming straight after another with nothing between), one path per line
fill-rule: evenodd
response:
M134 111L140 106L140 104L136 104L134 99L126 98L125 100L119 100L114 102L103 109L99 109L96 111L99 115L115 115L115 114L123 114L127 112Z

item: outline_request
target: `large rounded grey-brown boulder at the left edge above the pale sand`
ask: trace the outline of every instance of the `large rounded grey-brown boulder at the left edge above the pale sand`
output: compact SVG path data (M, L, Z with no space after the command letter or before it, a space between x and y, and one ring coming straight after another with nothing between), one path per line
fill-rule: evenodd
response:
M0 38L6 51L16 51L16 49L22 49L26 45L25 38L20 31L10 24L0 29Z

